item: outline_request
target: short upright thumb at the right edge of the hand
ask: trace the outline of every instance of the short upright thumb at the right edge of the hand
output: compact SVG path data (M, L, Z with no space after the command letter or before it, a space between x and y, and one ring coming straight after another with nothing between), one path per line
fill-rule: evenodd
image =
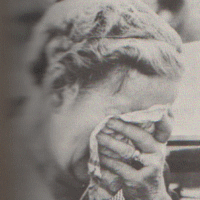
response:
M161 143L168 141L173 129L173 117L163 116L162 120L155 123L154 138Z

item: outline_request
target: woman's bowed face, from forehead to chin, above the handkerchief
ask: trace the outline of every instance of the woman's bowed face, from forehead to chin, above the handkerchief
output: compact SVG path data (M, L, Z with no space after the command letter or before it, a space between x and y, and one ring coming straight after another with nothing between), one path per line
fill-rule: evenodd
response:
M176 81L148 77L135 70L129 72L120 90L119 86L119 77L113 73L82 96L77 96L76 87L66 90L63 105L53 114L51 148L68 180L88 179L89 137L107 115L173 103L177 94Z

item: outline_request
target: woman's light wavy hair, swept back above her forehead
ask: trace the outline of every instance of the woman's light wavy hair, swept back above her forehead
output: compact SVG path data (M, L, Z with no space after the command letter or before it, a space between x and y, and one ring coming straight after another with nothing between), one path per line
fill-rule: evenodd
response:
M47 78L54 89L75 82L84 88L122 66L169 79L183 71L180 37L139 0L58 2L32 41L36 82Z

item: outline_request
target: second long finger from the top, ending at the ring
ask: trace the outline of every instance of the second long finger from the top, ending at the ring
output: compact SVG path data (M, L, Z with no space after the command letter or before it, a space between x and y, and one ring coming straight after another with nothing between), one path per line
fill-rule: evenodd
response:
M117 153L124 159L131 159L135 153L135 147L124 142L118 141L106 134L98 134L97 135L99 144L105 146Z

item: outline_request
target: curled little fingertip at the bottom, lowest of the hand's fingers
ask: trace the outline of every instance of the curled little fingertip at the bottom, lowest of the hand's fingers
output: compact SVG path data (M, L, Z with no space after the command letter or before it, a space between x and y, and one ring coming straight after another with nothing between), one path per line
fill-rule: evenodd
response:
M101 169L101 173L100 186L106 189L111 195L115 195L122 188L122 179L106 169Z

